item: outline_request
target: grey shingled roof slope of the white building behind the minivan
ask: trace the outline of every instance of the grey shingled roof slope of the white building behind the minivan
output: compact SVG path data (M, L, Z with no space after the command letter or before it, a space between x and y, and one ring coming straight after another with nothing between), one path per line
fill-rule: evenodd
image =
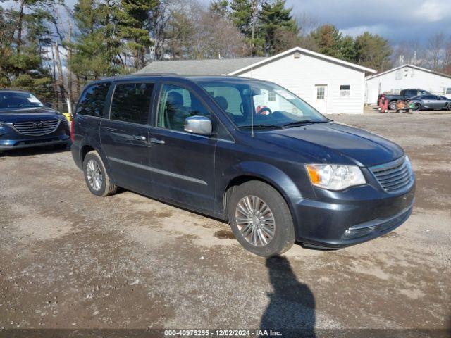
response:
M227 75L265 58L221 58L209 60L154 61L137 73L175 73L178 75Z

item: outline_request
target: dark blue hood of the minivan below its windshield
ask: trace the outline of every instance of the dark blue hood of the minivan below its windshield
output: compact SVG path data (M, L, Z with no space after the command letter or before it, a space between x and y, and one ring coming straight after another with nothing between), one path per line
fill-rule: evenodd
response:
M319 163L350 161L361 167L370 167L400 158L404 151L394 142L365 130L341 123L312 123L270 132L261 132L259 137L266 142L282 142L291 149L316 158ZM293 144L292 140L296 140ZM335 154L331 155L333 152Z

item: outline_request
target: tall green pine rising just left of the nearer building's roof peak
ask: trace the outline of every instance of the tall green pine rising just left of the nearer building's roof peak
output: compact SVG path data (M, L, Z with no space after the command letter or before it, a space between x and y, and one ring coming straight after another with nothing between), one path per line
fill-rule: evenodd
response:
M285 8L285 0L265 1L261 5L259 19L265 41L266 56L275 53L277 48L276 35L283 35L280 30L290 32L291 37L299 32L299 28L292 18L291 11L292 8Z

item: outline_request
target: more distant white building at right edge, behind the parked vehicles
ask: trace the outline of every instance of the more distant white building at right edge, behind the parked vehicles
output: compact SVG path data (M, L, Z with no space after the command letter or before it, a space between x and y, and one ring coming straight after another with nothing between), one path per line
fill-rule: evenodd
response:
M400 65L366 77L367 104L376 104L379 94L400 94L402 89L424 89L451 98L451 76L416 65Z

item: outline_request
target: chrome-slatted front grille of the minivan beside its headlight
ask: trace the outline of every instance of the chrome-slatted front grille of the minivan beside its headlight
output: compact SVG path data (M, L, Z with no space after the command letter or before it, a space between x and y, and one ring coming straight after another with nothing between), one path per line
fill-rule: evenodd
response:
M414 182L414 172L406 157L370 168L386 192L398 192Z

